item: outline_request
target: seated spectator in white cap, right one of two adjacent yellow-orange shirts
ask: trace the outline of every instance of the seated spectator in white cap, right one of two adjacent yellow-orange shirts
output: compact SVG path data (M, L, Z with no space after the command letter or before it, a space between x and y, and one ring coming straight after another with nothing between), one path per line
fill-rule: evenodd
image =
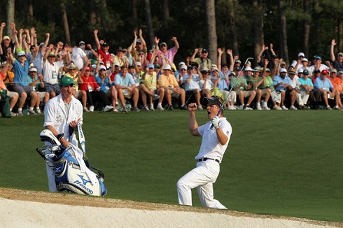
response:
M165 99L168 103L168 110L173 111L174 106L172 105L172 97L175 97L181 101L181 109L187 110L187 106L185 104L186 93L185 90L179 87L179 83L177 83L176 78L172 75L172 67L167 64L163 69L163 73L158 78L158 85L161 88L165 89ZM158 107L161 106L160 102Z

